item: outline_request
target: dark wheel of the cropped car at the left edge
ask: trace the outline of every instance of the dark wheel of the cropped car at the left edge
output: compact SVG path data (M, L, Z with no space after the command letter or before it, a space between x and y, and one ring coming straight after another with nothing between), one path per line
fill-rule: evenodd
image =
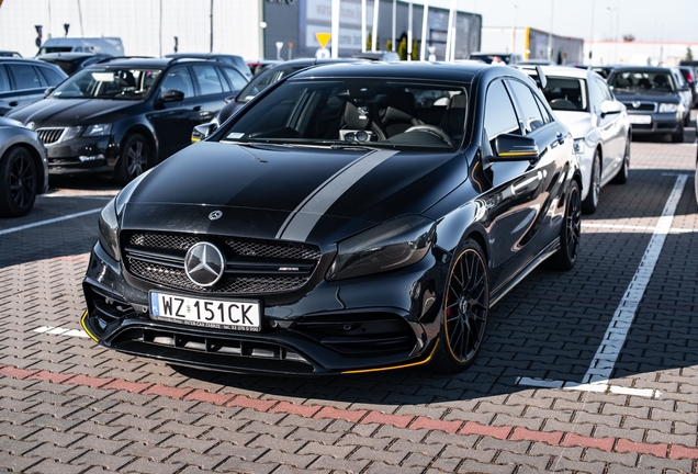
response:
M32 155L15 147L0 159L0 215L21 217L29 214L36 200L38 176Z

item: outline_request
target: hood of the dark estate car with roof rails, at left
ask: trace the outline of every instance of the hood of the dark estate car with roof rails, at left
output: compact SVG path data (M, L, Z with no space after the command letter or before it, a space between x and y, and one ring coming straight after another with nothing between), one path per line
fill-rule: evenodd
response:
M143 106L140 101L104 99L42 99L8 114L24 124L34 122L34 128L47 126L88 125L111 123L134 115Z

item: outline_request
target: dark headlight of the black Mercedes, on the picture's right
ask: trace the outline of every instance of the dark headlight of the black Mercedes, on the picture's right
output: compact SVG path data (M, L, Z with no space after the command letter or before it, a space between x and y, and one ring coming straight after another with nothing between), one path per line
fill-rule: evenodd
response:
M436 237L436 223L404 216L339 242L327 280L342 280L396 270L421 260Z

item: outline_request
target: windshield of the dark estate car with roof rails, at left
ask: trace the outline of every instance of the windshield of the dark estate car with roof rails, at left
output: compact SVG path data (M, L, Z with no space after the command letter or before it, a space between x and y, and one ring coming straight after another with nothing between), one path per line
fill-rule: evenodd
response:
M160 75L160 69L82 69L58 86L54 99L143 100Z

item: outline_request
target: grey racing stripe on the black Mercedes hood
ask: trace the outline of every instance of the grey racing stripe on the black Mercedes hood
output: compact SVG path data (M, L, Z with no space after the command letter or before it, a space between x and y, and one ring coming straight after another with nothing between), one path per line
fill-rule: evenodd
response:
M397 151L373 150L337 171L293 210L279 229L277 238L305 241L315 224L349 188L395 154Z

